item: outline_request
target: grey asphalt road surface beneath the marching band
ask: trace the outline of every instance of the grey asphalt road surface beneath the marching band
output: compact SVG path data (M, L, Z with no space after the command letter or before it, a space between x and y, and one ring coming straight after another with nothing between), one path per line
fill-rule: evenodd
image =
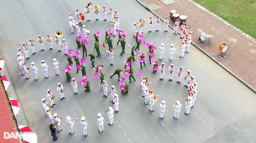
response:
M89 2L89 1L88 1ZM256 101L255 94L235 77L226 72L218 66L215 62L210 60L209 57L201 53L193 45L190 46L189 54L184 54L184 58L179 58L180 50L179 45L181 39L179 35L172 34L172 29L169 28L168 33L163 32L163 22L160 23L159 32L155 32L155 24L152 26L152 33L148 33L148 24L143 27L143 40L147 43L155 42L155 46L159 47L161 43L165 43L166 52L164 60L158 59L158 49L155 50L154 60L159 64L165 63L168 68L170 64L174 64L175 69L182 66L184 71L191 70L191 74L195 76L195 81L198 83L197 87L197 101L194 107L190 110L189 115L184 115L185 102L183 98L187 97L187 89L183 86L184 80L181 84L177 84L177 73L174 75L173 81L168 81L168 71L165 72L164 81L159 80L159 71L155 74L152 73L152 64L149 64L148 56L146 56L146 67L140 69L139 58L132 63L134 77L136 81L132 80L129 86L129 93L126 95L120 94L120 82L117 81L117 75L109 78L111 73L119 67L124 68L123 61L130 56L131 47L135 41L133 37L133 23L138 22L140 18L148 19L149 16L155 19L148 10L142 7L134 0L117 1L100 0L91 1L93 8L99 5L102 9L106 6L109 10L117 10L120 18L120 30L123 30L126 35L126 42L131 46L126 45L125 54L120 56L122 48L116 45L117 37L111 37L114 50L114 66L110 66L109 54L104 51L102 45L102 57L96 57L95 66L103 64L103 71L105 73L105 80L110 86L116 86L117 94L119 95L119 112L114 113L114 124L108 124L108 117L105 111L113 104L109 103L111 96L108 98L102 97L103 91L100 91L100 80L93 79L95 73L91 69L91 62L88 57L85 66L87 71L88 80L90 81L91 92L84 92L84 87L78 85L78 95L73 94L72 85L66 80L63 69L69 65L64 54L57 52L58 48L53 43L53 50L49 50L47 41L45 40L44 46L46 51L40 51L40 46L37 42L35 49L37 54L32 55L29 48L29 60L25 61L30 66L32 61L36 66L40 66L41 60L50 63L48 67L49 78L44 78L42 69L38 68L39 80L34 80L32 73L29 71L30 79L21 76L20 69L17 65L17 49L21 47L22 43L27 43L28 39L37 39L38 35L42 35L45 39L47 34L54 37L57 30L61 30L64 34L61 37L66 39L69 49L73 52L78 50L75 39L77 33L71 34L68 14L72 13L75 17L75 9L79 8L83 12L84 7L88 2L77 1L41 1L41 0L25 0L25 1L0 1L0 12L5 13L0 21L0 49L1 54L6 62L9 70L12 84L19 97L19 100L24 108L25 117L29 123L32 131L35 131L38 136L38 142L48 143L52 142L49 130L49 120L46 118L45 113L41 106L41 99L46 98L47 89L51 89L55 94L55 106L53 112L58 113L62 117L61 128L63 129L59 136L59 142L256 142L254 134L255 127L255 110L254 103ZM99 41L104 41L105 31L111 28L110 18L107 15L107 21L102 18L102 12L99 13L99 21L95 21L91 9L91 21L82 21L86 28L91 31L89 34L90 40L87 45L87 52L93 48L93 34L101 30L103 36ZM169 13L166 13L168 16ZM92 39L92 40L91 40ZM104 41L105 42L105 41ZM174 44L176 52L174 60L169 61L168 49L171 43ZM107 46L108 47L108 46ZM81 49L80 49L81 50ZM216 48L217 50L217 48ZM148 55L147 48L143 45L140 46L140 51ZM92 51L96 54L96 51ZM80 56L81 58L82 56ZM56 58L59 61L60 75L56 76L52 66L52 59ZM242 64L242 63L241 63ZM239 65L238 65L239 66ZM71 76L75 77L78 83L82 80L82 73L76 73L75 63L72 64ZM124 69L123 69L124 70ZM127 69L125 69L127 70ZM144 97L142 97L142 90L140 89L140 78L137 73L141 72L143 76L147 76L149 82L152 84L149 89L154 89L155 95L160 95L157 103L155 103L154 112L149 111L149 105L146 106ZM245 72L248 72L245 70ZM99 74L99 72L98 72ZM128 76L125 76L125 83L129 82ZM182 77L184 79L184 75ZM60 100L58 92L56 91L57 83L61 82L64 86L64 94L66 99ZM174 99L180 100L182 107L178 119L174 119ZM165 118L158 118L159 106L162 100L166 100ZM98 125L96 123L97 114L102 113L104 116L104 132L98 132ZM77 118L74 126L75 134L70 135L68 127L65 123L66 116ZM88 136L82 136L82 129L79 121L82 116L88 124Z

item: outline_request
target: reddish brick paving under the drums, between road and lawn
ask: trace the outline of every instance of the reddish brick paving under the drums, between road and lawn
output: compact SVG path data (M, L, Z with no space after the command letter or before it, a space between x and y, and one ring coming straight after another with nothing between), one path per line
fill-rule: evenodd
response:
M192 42L206 51L210 56L219 61L222 65L226 66L228 70L236 74L240 80L244 80L245 85L252 86L255 92L256 88L256 43L253 38L249 37L231 24L228 24L223 19L214 15L214 13L207 12L205 8L194 1L188 0L175 0L176 3L165 5L159 0L137 0L145 6L155 3L159 9L152 10L162 18L166 16L169 18L170 25L174 25L171 21L170 11L176 10L179 15L186 15L187 26L190 27L192 34ZM199 6L198 6L199 5ZM199 8L200 7L200 8ZM216 17L214 17L216 16ZM231 27L229 26L231 25ZM161 25L163 26L163 25ZM153 25L154 27L154 25ZM205 33L211 33L214 43L212 45L203 45L198 40L198 29L203 30ZM244 36L245 35L245 36ZM178 35L177 35L178 36ZM248 39L249 37L250 39ZM254 39L255 40L255 39ZM229 45L226 57L222 58L219 54L219 45L225 42ZM221 74L221 73L220 73ZM243 82L243 81L242 81Z

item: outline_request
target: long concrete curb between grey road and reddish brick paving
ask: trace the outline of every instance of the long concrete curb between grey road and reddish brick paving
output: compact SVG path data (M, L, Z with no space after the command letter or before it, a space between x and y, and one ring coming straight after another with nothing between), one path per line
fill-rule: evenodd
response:
M149 10L152 14L154 14L155 16L157 16L157 14L155 12L152 12L148 7L146 7L145 4L143 4L141 1L136 0L138 3L140 3L143 7L145 7L147 10ZM187 0L190 1L191 0ZM192 3L193 4L193 3ZM164 21L164 19L162 17L159 17L162 21ZM168 25L169 27L171 27L172 29L174 29L173 26L171 26L170 24ZM180 32L178 31L178 34L180 34ZM204 51L204 49L202 49L201 47L199 47L197 44L195 44L194 42L191 42L192 45L194 45L197 49L199 49L201 52L203 52L204 54L206 54L209 58L211 58L213 61L215 61L217 64L219 64L219 66L221 66L223 69L225 69L227 72L229 72L230 74L232 74L234 77L236 77L236 79L238 79L240 82L242 82L245 86L247 86L248 88L250 88L254 93L256 93L256 89L253 88L251 85L249 85L245 80L243 80L241 77L239 77L238 75L236 75L235 73L233 73L231 70L229 70L226 66L224 66L223 64L221 64L218 60L216 60L215 58L213 58L210 54L208 54L206 51Z

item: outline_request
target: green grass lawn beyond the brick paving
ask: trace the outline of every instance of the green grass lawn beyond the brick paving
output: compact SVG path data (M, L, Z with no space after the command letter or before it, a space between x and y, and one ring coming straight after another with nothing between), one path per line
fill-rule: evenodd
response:
M256 0L194 0L256 39Z

